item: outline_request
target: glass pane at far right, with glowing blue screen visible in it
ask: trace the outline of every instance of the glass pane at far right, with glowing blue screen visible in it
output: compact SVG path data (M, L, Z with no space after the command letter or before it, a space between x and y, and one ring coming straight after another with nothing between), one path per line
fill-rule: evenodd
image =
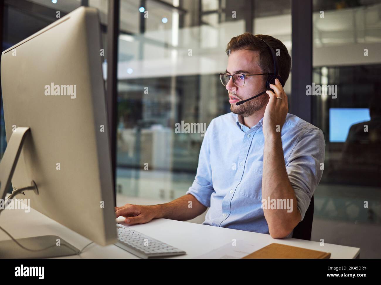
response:
M381 235L380 1L314 1L312 123L323 130L323 177L312 240L379 258ZM317 90L317 89L316 89Z

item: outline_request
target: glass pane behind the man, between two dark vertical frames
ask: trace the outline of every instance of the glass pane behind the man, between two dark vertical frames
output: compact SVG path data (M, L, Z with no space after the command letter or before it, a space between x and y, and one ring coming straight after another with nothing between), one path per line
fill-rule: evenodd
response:
M269 3L271 12L262 1L120 2L118 193L142 203L185 194L203 135L176 126L207 127L230 112L218 77L226 70L230 39L244 32L269 34L291 54L290 1ZM288 79L288 94L290 86Z

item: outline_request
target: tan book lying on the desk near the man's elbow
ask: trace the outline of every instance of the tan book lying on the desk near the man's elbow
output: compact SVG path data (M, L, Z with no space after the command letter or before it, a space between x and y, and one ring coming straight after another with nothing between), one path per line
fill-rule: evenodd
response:
M285 244L269 244L242 258L330 258L331 253Z

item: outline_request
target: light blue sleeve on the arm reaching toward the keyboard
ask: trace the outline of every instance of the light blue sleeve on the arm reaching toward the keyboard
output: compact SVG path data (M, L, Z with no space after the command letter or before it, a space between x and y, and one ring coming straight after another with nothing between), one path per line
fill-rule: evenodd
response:
M210 166L210 136L213 120L210 122L201 144L197 173L186 194L192 194L205 207L210 207L210 197L214 192Z

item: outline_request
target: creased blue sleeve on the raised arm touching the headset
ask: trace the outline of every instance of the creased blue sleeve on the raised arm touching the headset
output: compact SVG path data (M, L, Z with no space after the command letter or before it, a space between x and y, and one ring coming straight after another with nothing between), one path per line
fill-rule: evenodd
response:
M322 178L324 158L324 135L322 130L314 128L304 133L287 160L286 171L295 191L300 221L304 219L312 195Z

